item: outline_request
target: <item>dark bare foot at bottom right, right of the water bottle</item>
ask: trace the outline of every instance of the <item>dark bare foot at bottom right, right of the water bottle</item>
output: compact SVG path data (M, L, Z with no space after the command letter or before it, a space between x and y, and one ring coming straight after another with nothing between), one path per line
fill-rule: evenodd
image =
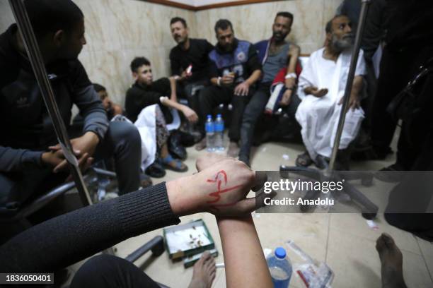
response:
M376 240L376 250L381 258L382 288L406 288L403 279L403 255L389 234Z

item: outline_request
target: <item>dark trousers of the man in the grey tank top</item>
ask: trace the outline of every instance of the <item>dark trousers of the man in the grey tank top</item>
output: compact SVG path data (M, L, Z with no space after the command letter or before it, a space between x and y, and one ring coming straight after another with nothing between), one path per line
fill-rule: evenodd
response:
M258 90L255 91L250 102L246 105L245 112L243 113L242 125L241 125L241 150L239 155L250 156L251 145L253 143L253 136L255 131L255 124L259 117L263 114L267 101L270 97L270 85L272 83L261 83ZM296 113L296 109L299 106L301 100L294 93L291 97L291 102L286 108L286 112L289 116L293 116Z

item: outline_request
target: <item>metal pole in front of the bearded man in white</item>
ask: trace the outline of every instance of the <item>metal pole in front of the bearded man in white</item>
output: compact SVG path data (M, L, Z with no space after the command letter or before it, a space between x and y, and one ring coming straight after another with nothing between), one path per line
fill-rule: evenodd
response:
M357 28L357 35L354 41L354 47L352 50L352 59L350 61L349 74L347 75L345 95L343 97L344 101L341 107L340 119L338 120L337 134L335 135L333 153L330 157L328 171L332 171L334 169L335 159L337 158L338 148L340 147L341 134L342 134L343 127L345 126L345 119L346 119L346 112L347 112L346 110L347 110L347 106L349 105L350 92L352 91L354 73L355 73L355 69L357 68L358 54L359 54L359 49L361 48L362 34L364 32L364 25L365 25L366 15L369 10L370 1L371 0L362 0L361 13L359 14L360 15L359 25Z

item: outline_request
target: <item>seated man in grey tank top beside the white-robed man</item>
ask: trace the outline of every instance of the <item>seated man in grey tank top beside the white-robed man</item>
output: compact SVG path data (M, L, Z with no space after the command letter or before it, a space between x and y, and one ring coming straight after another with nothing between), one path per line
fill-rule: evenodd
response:
M284 92L279 104L281 106L290 104L291 113L294 115L296 107L300 102L296 97L296 93L292 95L296 84L295 68L300 49L295 44L285 41L287 35L289 35L292 23L293 15L291 13L277 13L272 25L272 38L255 44L255 47L258 49L259 59L262 62L263 76L258 90L254 93L243 114L241 150L239 151L239 160L245 162L248 166L250 166L250 149L253 142L255 123L263 113L265 105L269 100L272 81L285 66L287 66L287 75L284 84L287 90Z

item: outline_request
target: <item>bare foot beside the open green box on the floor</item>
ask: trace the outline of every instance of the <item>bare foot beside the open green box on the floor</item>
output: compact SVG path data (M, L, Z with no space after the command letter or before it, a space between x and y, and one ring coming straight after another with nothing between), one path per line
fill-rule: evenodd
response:
M194 264L194 272L188 288L210 288L216 273L217 268L215 268L214 257L208 251L205 251Z

